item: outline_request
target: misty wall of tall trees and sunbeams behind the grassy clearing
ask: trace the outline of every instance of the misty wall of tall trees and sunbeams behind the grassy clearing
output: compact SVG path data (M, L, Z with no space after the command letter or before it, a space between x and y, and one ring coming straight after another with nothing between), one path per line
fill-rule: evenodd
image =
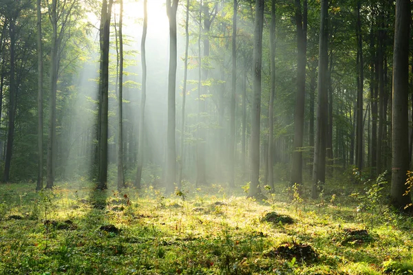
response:
M168 186L169 192L189 183L237 188L253 175L255 196L273 181L317 187L343 173L363 181L395 167L392 135L399 124L390 107L398 94L392 98L390 87L399 78L392 3L260 1L260 9L245 0L168 3L165 12L163 1L124 0L119 45L110 28L118 1L1 3L4 181L37 178L41 188L45 127L48 187L54 179L87 177L106 188L120 164L127 184ZM129 12L144 6L147 17ZM96 10L100 14L92 15ZM255 30L262 30L261 50ZM112 60L120 45L123 72ZM122 96L114 92L115 75ZM410 100L403 96L404 104ZM123 118L114 115L120 109ZM401 129L411 130L403 123Z

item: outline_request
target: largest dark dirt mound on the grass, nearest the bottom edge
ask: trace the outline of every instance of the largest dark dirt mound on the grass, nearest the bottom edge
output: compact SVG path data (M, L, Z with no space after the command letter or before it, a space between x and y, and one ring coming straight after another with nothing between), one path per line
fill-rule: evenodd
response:
M297 261L312 262L317 260L317 253L310 246L302 243L286 243L278 248L266 252L264 256L279 256L283 259L297 259Z

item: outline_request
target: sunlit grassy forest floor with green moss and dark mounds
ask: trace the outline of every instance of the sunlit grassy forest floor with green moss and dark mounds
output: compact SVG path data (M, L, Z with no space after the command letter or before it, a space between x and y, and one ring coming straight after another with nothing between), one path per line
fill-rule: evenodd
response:
M317 201L286 184L266 201L110 187L1 184L0 274L413 273L413 219L374 182L327 185Z

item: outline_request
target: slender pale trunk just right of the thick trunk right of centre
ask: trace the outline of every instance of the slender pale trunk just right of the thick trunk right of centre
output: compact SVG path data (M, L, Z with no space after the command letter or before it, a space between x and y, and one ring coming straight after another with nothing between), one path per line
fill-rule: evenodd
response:
M271 0L270 26L271 90L268 105L268 186L274 191L274 98L275 98L275 0Z

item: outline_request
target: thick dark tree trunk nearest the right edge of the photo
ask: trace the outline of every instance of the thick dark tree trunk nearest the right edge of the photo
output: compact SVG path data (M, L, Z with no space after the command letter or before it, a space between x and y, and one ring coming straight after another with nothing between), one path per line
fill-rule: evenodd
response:
M392 187L394 206L410 206L410 192L405 185L409 169L409 40L410 0L396 0L396 25L394 29L393 99L392 99Z

